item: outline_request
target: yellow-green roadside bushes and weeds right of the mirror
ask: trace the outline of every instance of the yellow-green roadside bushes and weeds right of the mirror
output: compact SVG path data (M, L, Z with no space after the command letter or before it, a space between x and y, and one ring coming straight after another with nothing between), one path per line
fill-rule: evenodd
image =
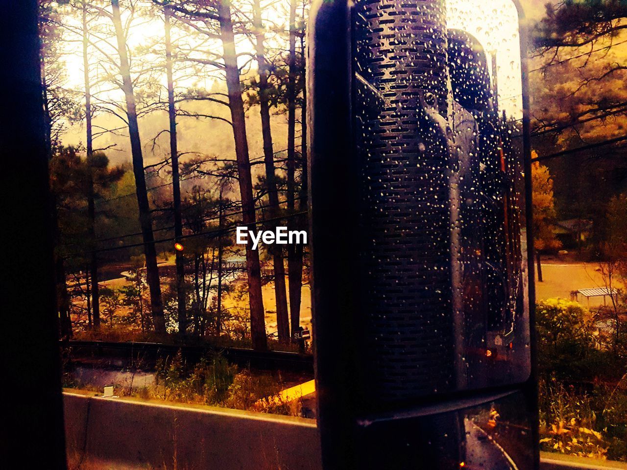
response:
M594 326L613 317L564 299L537 304L542 450L627 461L627 328Z

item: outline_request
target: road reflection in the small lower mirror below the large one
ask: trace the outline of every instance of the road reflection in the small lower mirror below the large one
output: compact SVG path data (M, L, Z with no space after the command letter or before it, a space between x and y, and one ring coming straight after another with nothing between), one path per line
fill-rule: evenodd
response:
M374 422L364 433L373 440L364 462L395 470L532 469L534 437L524 402L515 393L455 411ZM376 442L381 436L384 448Z

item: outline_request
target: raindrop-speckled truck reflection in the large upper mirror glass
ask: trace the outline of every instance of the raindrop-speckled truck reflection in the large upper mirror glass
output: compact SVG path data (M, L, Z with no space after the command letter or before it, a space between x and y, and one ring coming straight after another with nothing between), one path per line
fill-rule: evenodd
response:
M529 376L514 3L357 1L364 401Z

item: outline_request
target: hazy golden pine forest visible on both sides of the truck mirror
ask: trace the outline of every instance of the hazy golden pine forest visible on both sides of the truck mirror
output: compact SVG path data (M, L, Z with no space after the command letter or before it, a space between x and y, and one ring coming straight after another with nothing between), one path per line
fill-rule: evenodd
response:
M561 249L619 256L627 50L619 3L523 6L542 279L540 257ZM263 349L266 322L288 343L310 316L307 249L242 251L233 234L307 226L308 8L40 2L63 337L224 333Z

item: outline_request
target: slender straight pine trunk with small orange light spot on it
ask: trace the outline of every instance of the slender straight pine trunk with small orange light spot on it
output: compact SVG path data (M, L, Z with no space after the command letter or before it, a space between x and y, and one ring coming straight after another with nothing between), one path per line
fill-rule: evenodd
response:
M181 182L179 180L179 150L176 138L176 108L174 107L174 80L172 79L172 41L170 38L169 6L164 8L166 21L166 73L167 73L167 113L170 118L170 156L172 159L172 201L174 201L174 239L179 241L183 235L181 217ZM179 320L179 332L187 330L185 296L185 259L182 251L176 251L176 297Z

